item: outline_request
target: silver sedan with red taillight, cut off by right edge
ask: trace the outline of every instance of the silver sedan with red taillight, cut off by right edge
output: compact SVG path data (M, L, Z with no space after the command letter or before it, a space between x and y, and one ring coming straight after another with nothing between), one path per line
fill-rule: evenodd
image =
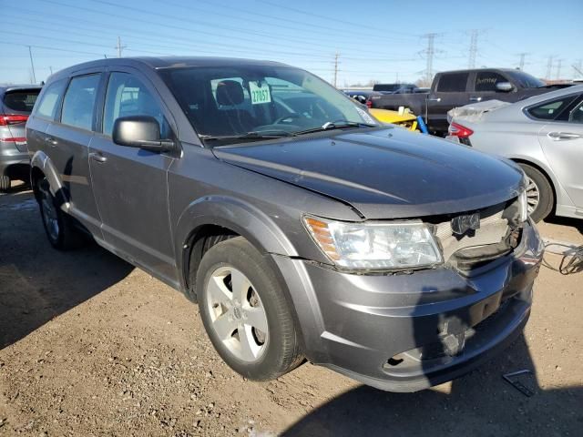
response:
M583 86L485 105L452 111L449 138L516 161L535 221L552 210L583 219Z

